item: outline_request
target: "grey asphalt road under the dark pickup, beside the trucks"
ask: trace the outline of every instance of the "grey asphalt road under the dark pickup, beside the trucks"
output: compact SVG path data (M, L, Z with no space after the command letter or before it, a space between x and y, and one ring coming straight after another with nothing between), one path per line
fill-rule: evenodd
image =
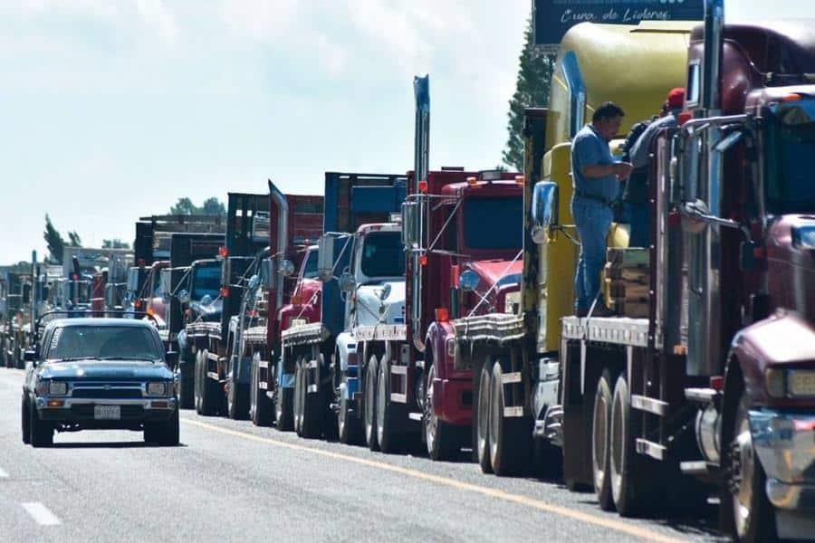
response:
M620 519L593 494L302 440L183 411L182 446L141 433L20 438L23 372L0 368L0 541L681 541L707 519Z

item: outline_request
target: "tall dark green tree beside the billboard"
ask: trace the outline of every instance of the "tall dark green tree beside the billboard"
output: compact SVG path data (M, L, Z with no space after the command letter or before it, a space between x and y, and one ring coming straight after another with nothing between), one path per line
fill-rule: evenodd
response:
M523 51L518 58L518 81L515 93L510 100L507 114L508 138L503 149L504 164L523 172L523 110L530 107L545 107L549 104L551 90L551 70L555 59L551 55L542 55L535 51L532 39L532 18L526 25Z

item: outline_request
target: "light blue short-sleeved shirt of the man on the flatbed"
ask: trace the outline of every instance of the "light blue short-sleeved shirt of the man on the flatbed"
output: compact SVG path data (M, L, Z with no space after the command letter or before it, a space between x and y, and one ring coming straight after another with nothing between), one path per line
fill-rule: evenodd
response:
M606 166L617 160L611 155L609 142L603 139L590 124L586 125L571 141L571 175L576 192L603 198L611 202L619 195L617 176L610 175L590 179L583 176L584 166Z

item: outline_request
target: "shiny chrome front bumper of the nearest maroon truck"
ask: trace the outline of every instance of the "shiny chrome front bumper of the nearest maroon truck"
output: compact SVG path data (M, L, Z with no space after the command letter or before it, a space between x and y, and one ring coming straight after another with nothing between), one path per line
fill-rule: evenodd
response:
M815 414L750 411L780 538L815 538Z

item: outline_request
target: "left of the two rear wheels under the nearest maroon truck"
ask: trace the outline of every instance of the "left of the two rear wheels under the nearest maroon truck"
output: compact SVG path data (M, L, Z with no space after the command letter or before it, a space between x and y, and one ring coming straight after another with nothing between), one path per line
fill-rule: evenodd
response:
M594 394L594 416L591 421L591 472L594 478L594 493L600 509L614 510L611 496L611 472L609 471L609 428L611 425L611 375L608 369L597 381Z

